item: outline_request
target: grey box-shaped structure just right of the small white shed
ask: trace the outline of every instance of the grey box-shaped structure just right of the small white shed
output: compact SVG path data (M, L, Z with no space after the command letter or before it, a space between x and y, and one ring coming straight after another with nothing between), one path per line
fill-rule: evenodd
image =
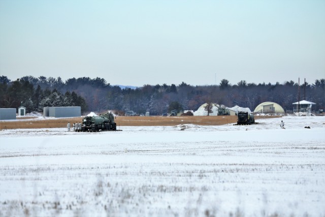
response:
M43 115L46 114L47 108L44 108ZM67 107L48 107L49 117L80 117L80 106L67 106Z

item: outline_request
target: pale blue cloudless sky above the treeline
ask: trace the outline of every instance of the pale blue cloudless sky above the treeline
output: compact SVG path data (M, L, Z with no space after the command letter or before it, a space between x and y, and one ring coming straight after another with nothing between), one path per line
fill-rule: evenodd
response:
M325 1L0 0L0 74L313 83L325 78Z

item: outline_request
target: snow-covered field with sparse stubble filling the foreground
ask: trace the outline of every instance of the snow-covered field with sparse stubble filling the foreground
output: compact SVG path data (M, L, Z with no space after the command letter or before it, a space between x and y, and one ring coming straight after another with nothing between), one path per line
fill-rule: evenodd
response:
M325 117L257 122L0 131L0 216L325 216Z

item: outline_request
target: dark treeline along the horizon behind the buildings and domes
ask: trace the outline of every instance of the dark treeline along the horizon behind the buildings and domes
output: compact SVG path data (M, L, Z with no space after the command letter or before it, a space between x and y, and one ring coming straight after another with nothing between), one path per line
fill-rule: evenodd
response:
M316 79L300 85L300 100L316 103L314 110L325 107L325 79ZM202 104L213 102L227 107L238 105L254 110L263 102L278 103L286 110L298 101L298 83L247 83L245 80L230 84L222 79L219 85L192 86L181 84L144 85L138 88L112 86L103 78L46 78L25 76L11 81L0 77L0 107L18 108L27 112L43 111L45 106L81 106L82 112L115 110L123 113L133 110L161 115L171 110L197 110ZM306 95L305 95L306 93Z

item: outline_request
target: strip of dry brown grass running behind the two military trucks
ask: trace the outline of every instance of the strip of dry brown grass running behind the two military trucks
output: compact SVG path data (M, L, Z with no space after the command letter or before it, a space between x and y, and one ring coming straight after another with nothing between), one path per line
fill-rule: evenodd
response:
M279 116L255 116L255 119L273 118ZM21 118L19 118L21 119ZM40 129L40 128L66 128L67 123L71 126L74 122L82 121L82 117L72 118L44 118L28 119L16 121L1 121L0 130L4 129ZM237 116L118 116L115 119L118 127L120 126L176 126L187 123L194 125L225 125L236 123Z

